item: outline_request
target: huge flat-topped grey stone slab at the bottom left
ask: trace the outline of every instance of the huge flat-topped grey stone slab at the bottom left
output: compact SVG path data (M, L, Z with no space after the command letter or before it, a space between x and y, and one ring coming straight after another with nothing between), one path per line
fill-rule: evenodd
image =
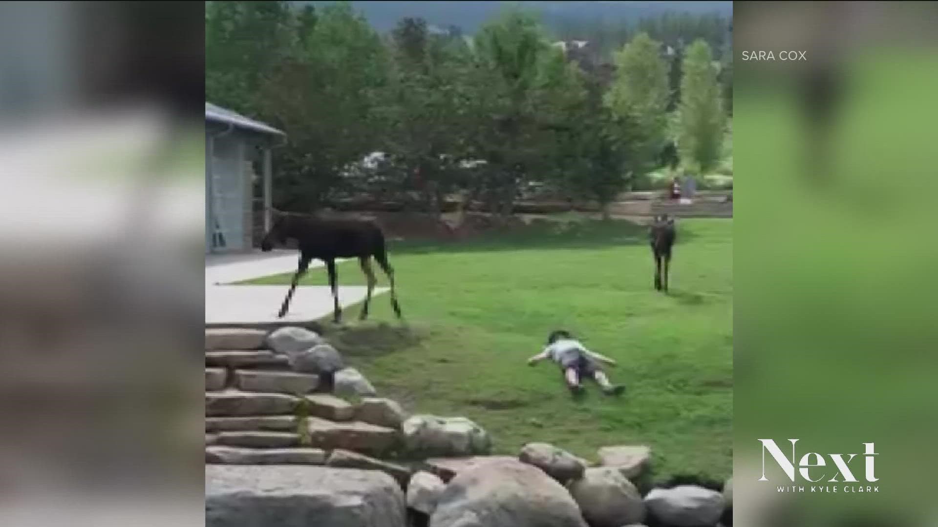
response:
M376 471L205 467L205 527L404 527L401 487Z

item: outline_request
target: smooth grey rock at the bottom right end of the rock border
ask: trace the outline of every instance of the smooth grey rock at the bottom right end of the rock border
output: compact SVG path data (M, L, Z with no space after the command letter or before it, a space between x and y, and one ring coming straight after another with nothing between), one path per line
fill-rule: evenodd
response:
M712 527L726 506L721 492L696 485L652 489L644 504L656 519L673 527Z

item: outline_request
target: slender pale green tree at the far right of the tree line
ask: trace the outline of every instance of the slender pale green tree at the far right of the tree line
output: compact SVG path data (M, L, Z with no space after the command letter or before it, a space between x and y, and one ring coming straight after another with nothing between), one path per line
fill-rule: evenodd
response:
M704 174L719 162L725 128L722 93L710 46L688 47L678 108L677 149L685 169Z

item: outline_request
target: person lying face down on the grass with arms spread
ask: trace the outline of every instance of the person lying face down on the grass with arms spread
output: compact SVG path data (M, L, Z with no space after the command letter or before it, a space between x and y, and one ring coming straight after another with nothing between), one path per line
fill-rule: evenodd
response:
M567 380L567 387L573 395L582 394L583 377L595 379L606 395L620 395L626 389L621 384L611 384L609 377L606 377L598 364L603 362L615 366L613 359L587 350L579 340L574 339L569 332L562 329L551 333L547 338L547 348L529 358L528 366L534 366L538 361L546 358L560 365L560 369L564 371L564 378Z

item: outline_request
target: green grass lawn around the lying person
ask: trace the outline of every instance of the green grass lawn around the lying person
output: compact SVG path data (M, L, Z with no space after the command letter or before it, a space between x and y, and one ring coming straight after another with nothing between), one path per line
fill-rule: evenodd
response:
M372 299L370 322L348 309L348 325L327 337L379 392L412 412L476 420L498 452L544 441L595 459L598 446L648 444L656 477L727 477L733 223L686 219L678 229L670 296L652 288L645 229L625 220L542 221L459 244L400 242L390 261L406 326L384 294ZM364 284L356 262L340 264L339 276ZM327 283L325 270L302 283ZM607 399L590 385L574 401L555 365L528 367L554 328L615 358L610 375L628 384L626 395Z

